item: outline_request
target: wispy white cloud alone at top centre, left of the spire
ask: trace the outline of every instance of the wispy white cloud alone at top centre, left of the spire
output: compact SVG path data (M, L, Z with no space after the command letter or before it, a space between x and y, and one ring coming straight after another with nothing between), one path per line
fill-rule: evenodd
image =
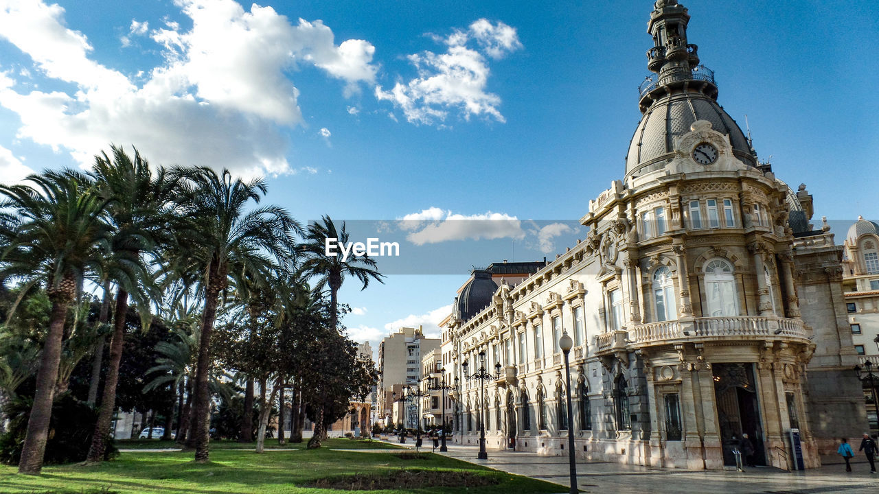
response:
M500 59L521 48L516 30L481 18L466 31L455 30L434 40L446 46L445 53L410 54L407 58L418 76L396 83L389 91L377 85L375 97L392 102L416 124L441 123L453 109L465 120L482 116L504 122L498 110L500 98L486 91L490 69L485 55Z

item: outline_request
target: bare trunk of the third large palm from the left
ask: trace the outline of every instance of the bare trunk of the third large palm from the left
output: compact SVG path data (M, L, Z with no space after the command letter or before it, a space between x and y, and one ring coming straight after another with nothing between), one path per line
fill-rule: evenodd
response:
M193 433L195 436L195 461L207 462L207 443L210 440L210 393L207 389L207 374L211 366L211 335L217 316L221 283L226 273L220 271L217 261L208 266L205 309L202 312L199 358L195 367L195 399L193 401Z

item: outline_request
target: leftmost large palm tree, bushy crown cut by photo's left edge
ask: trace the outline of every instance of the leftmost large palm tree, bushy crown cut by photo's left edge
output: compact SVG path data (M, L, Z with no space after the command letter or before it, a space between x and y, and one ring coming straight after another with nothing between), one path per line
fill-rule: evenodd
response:
M5 232L9 238L0 258L4 272L23 279L39 277L46 282L52 302L46 340L40 356L37 389L27 422L25 444L18 471L39 474L52 400L61 363L64 320L84 273L98 267L111 228L104 220L111 200L98 195L93 185L73 173L46 172L26 179L31 184L0 185L6 196L0 201Z

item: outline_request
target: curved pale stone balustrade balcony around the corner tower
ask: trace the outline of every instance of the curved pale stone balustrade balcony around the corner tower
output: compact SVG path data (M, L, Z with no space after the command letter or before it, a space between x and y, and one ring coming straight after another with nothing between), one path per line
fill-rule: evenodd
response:
M638 324L630 331L614 331L595 338L596 354L635 350L645 346L705 343L712 340L788 340L809 344L803 321L784 317L695 317L678 321Z

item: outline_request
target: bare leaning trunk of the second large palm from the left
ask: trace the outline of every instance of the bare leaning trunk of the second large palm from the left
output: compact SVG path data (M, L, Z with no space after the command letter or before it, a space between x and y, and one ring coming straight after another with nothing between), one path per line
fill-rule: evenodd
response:
M104 461L106 440L110 434L113 409L116 407L116 385L119 383L119 365L122 361L122 340L125 338L127 313L128 293L120 288L116 294L116 310L113 311L113 337L110 338L110 361L107 363L104 395L101 396L98 423L95 424L95 433L91 435L91 447L85 461Z

